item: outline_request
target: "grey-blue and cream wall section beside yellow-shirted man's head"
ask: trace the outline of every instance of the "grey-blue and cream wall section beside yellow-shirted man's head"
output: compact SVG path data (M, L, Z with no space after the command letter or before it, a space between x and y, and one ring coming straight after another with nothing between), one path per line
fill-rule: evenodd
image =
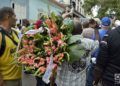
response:
M18 20L27 18L27 1L28 0L0 0L1 7L12 7Z

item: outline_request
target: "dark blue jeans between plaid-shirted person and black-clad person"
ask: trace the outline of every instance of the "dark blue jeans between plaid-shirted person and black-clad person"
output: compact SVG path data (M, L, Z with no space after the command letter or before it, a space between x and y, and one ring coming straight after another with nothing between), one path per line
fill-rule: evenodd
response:
M91 63L89 65L89 67L88 67L87 76L86 76L86 86L93 86L93 80L94 80L93 71L94 71L94 67L95 67L95 65L93 63Z

